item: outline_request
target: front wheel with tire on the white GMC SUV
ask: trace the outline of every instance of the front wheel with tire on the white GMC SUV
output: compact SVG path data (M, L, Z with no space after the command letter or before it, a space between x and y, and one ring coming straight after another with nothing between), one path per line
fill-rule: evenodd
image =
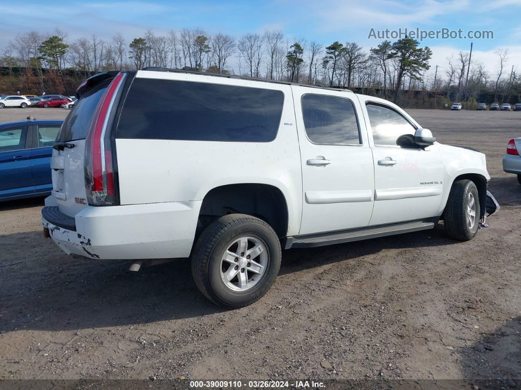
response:
M479 193L472 180L458 180L452 184L445 206L444 223L449 237L459 241L474 238L479 228Z

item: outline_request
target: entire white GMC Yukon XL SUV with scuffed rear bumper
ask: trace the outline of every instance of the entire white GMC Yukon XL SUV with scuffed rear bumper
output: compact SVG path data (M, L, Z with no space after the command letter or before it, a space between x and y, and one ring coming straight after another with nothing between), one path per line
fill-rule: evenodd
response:
M485 155L372 96L189 71L106 72L54 145L44 232L96 259L192 258L216 304L261 298L281 249L431 229L470 240ZM348 248L346 248L348 250Z

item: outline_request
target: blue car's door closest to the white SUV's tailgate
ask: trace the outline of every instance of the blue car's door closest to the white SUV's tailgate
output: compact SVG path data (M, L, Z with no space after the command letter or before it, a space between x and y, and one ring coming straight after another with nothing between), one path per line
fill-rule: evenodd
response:
M31 149L31 175L34 192L46 193L53 189L51 156L59 124L33 125L33 149Z

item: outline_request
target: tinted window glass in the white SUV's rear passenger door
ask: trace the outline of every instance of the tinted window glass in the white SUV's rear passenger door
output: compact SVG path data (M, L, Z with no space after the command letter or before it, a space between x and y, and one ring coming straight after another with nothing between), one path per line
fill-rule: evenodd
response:
M306 134L317 144L360 144L355 108L349 99L304 95L302 115Z

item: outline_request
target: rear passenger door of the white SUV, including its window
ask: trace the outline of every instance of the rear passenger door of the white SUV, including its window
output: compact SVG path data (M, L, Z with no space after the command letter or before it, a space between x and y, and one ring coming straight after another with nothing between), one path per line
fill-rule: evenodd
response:
M366 227L373 210L373 156L351 92L292 87L301 150L300 234Z

